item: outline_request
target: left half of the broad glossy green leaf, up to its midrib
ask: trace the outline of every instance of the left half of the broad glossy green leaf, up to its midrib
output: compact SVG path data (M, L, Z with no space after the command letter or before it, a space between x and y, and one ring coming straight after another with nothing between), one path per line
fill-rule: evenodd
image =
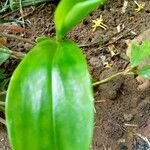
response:
M55 149L52 111L53 41L37 44L12 75L6 121L12 150Z

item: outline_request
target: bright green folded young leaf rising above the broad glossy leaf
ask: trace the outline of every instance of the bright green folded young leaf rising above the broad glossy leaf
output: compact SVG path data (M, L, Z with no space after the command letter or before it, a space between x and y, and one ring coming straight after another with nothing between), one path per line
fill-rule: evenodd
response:
M107 0L62 0L55 12L57 38L62 38L85 16Z

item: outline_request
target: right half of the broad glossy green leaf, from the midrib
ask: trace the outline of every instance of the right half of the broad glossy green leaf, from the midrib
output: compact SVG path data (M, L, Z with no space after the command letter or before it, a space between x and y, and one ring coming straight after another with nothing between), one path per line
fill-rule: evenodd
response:
M74 43L60 43L53 60L52 81L58 150L89 150L93 94L86 60Z

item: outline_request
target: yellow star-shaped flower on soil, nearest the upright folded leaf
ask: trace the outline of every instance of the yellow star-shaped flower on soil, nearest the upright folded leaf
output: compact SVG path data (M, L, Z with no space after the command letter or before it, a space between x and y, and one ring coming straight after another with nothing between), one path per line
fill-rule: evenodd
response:
M103 17L102 17L102 15L100 16L100 18L97 18L96 20L93 20L92 22L94 23L93 26L92 26L93 32L97 29L97 27L101 27L104 30L107 29L107 25L105 25L103 23Z

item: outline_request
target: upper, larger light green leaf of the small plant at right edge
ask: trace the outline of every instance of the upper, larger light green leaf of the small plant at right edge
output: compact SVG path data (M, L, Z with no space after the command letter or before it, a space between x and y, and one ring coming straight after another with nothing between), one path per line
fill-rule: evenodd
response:
M144 41L142 45L133 44L131 47L131 67L136 67L150 56L150 41Z

